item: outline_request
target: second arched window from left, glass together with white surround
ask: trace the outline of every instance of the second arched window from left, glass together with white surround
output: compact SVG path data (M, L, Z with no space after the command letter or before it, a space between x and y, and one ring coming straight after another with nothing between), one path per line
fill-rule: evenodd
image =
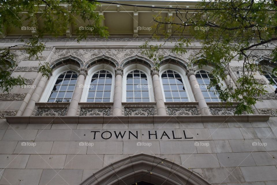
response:
M114 92L114 68L100 64L88 70L81 102L112 102Z

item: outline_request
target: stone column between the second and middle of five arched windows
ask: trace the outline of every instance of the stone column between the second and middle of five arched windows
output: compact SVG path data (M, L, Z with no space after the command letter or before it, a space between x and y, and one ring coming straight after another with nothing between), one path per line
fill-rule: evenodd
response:
M115 91L113 94L113 116L122 115L122 76L123 76L123 69L115 68Z

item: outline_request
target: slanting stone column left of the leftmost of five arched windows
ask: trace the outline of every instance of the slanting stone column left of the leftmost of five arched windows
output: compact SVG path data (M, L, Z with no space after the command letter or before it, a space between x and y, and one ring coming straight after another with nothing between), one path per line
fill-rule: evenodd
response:
M50 77L50 76L49 76ZM38 82L38 85L36 86L30 100L27 103L27 106L25 107L22 116L31 116L33 113L33 110L35 108L35 103L39 101L42 92L46 86L48 78L47 77L41 77L40 81Z

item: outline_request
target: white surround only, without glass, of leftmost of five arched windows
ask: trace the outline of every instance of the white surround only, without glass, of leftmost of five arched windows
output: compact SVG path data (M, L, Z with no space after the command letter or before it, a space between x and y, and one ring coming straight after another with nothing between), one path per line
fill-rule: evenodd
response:
M47 82L46 87L44 88L44 92L42 93L42 96L41 96L39 102L48 102L48 99L51 95L51 92L53 90L55 82L57 81L57 78L59 77L59 75L61 75L62 73L66 72L66 71L74 71L75 73L77 73L77 75L79 75L78 67L71 65L71 64L61 66L61 67L57 68L56 70L54 70L52 73L52 76L50 77L50 79ZM76 84L75 84L75 87L76 87ZM74 90L75 90L75 88L74 88ZM73 92L74 92L74 90L73 90Z

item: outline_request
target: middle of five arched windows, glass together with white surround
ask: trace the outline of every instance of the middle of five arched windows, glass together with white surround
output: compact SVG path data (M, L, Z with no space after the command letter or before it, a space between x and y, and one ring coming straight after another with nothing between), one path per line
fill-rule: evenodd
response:
M150 70L140 64L128 65L123 72L123 101L154 101Z

